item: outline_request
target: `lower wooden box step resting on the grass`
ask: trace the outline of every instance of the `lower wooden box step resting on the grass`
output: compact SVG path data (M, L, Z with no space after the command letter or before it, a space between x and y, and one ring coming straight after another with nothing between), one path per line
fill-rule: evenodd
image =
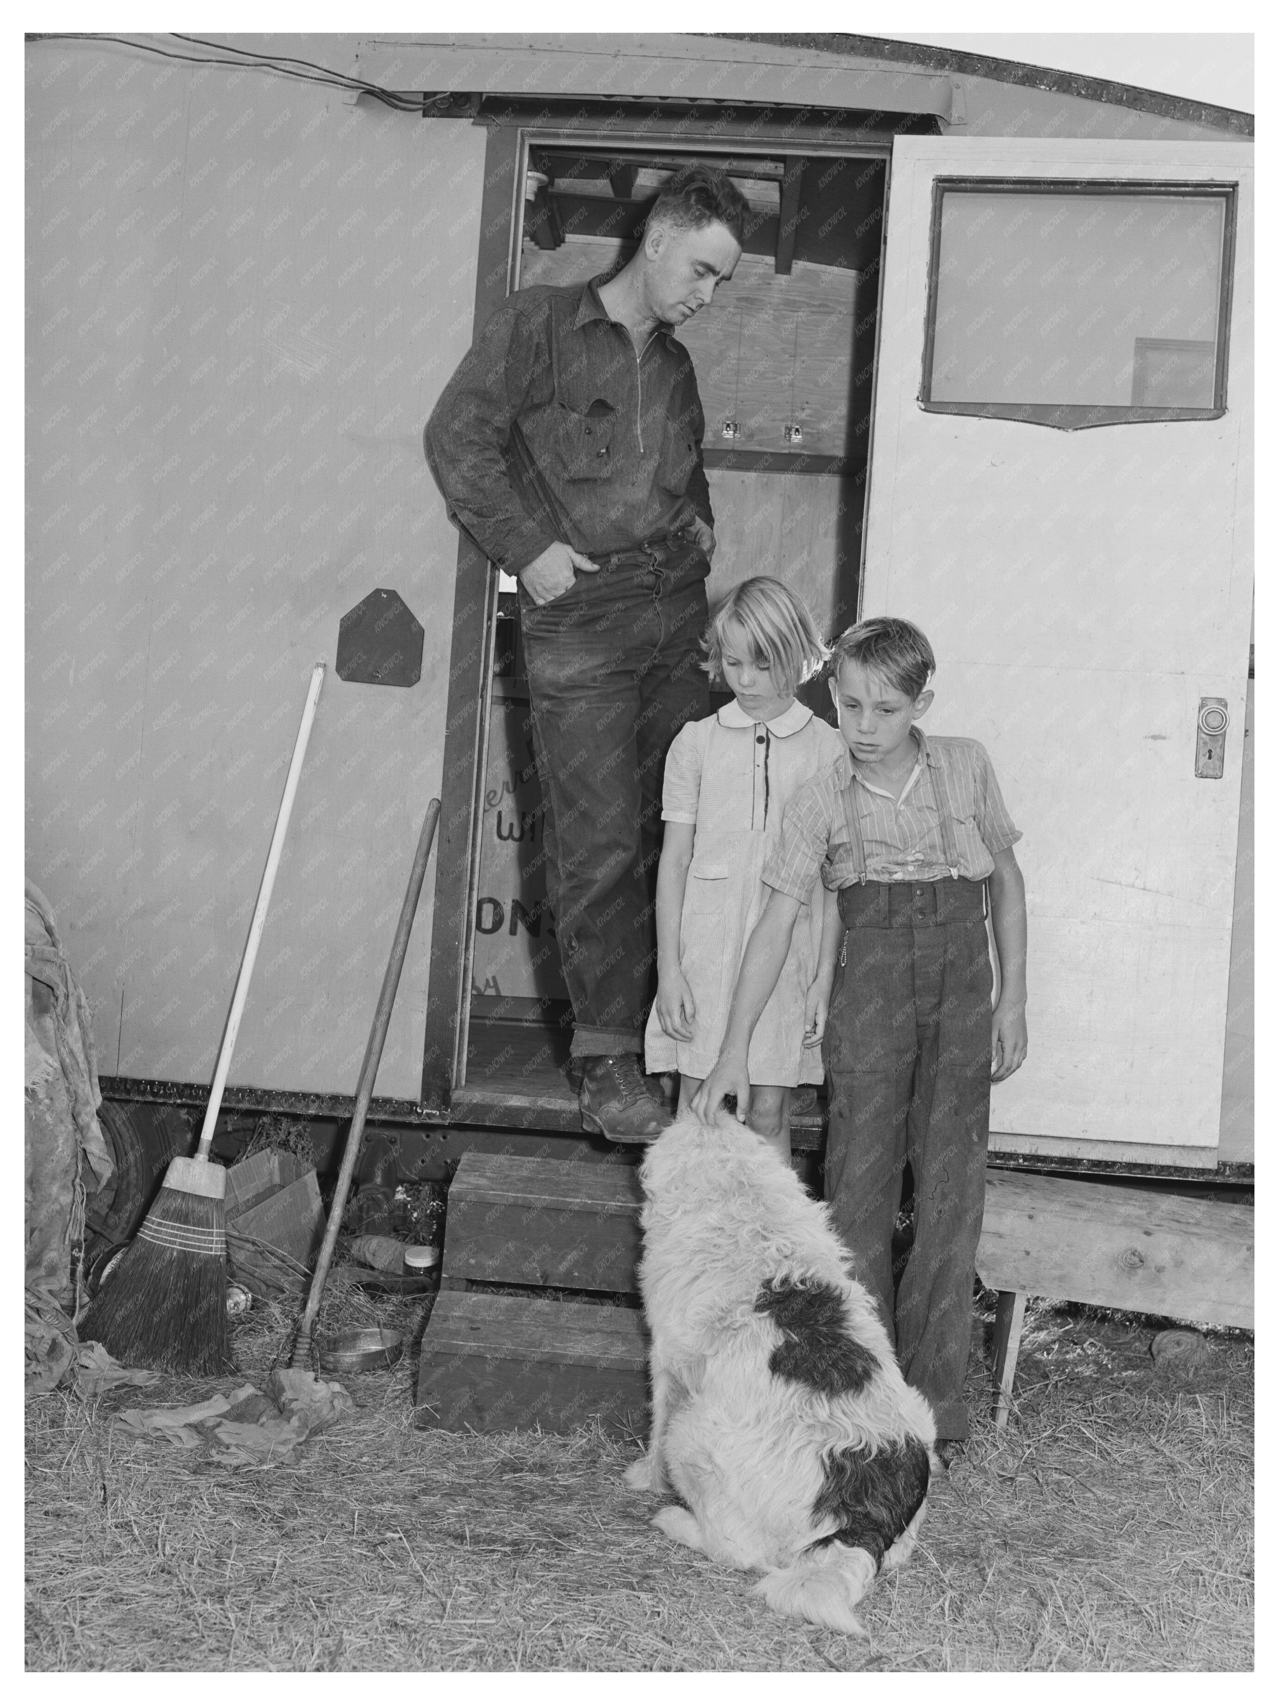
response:
M616 1436L648 1427L640 1309L442 1291L421 1340L414 1422L449 1432Z

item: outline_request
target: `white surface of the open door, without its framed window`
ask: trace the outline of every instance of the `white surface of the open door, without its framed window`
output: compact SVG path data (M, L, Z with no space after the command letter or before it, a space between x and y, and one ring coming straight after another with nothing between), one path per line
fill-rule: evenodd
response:
M1228 411L1061 433L917 406L940 172L1238 181ZM1238 143L899 140L866 614L938 653L928 728L982 738L1025 830L1030 1054L993 1129L1212 1151L1241 742L1194 776L1202 696L1243 718L1252 595L1252 165Z

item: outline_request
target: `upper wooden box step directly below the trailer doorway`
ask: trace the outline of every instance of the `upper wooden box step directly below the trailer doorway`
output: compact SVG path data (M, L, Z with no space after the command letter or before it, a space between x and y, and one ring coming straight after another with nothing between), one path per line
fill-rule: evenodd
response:
M634 1294L641 1204L634 1166L466 1154L449 1187L442 1287Z

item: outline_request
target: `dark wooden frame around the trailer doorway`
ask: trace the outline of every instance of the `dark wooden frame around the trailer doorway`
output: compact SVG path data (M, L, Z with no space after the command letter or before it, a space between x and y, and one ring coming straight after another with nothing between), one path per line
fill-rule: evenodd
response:
M767 113L769 109L762 109ZM774 114L778 107L771 109ZM784 109L783 109L784 113ZM524 164L529 147L570 147L583 135L604 133L619 148L653 148L680 153L788 153L830 159L883 159L892 177L890 116L878 124L865 124L848 114L848 124L803 123L783 116L759 121L757 128L738 121L732 130L716 131L711 118L687 119L662 114L645 128L614 126L607 111L570 111L561 114L513 113L510 119L488 118L484 152L484 194L479 218L479 257L476 269L474 331L496 312L517 283L518 235L522 232ZM904 116L900 128L916 128ZM880 228L878 302L883 290L885 217ZM877 334L878 336L878 334ZM871 396L871 431L873 431ZM868 445L870 454L870 445ZM870 465L870 464L868 464ZM863 532L865 552L865 532ZM861 592L858 590L858 600ZM471 957L477 881L481 791L488 766L488 725L493 696L493 644L496 636L498 576L489 571L483 551L466 537L457 544L457 593L454 604L454 643L449 662L449 702L445 713L443 779L440 786L440 830L437 852L435 921L431 931L431 965L426 992L426 1035L423 1045L421 1100L426 1108L447 1113L454 1089L466 1083L466 1047L471 1013Z

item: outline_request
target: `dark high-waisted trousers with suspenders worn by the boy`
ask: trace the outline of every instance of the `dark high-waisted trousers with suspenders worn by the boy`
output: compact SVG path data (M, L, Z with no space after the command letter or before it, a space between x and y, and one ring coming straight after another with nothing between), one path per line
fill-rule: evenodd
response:
M844 950L825 1026L825 1197L940 1439L964 1439L972 1275L991 1113L991 960L984 883L866 881L839 890ZM894 1299L902 1171L916 1231Z

